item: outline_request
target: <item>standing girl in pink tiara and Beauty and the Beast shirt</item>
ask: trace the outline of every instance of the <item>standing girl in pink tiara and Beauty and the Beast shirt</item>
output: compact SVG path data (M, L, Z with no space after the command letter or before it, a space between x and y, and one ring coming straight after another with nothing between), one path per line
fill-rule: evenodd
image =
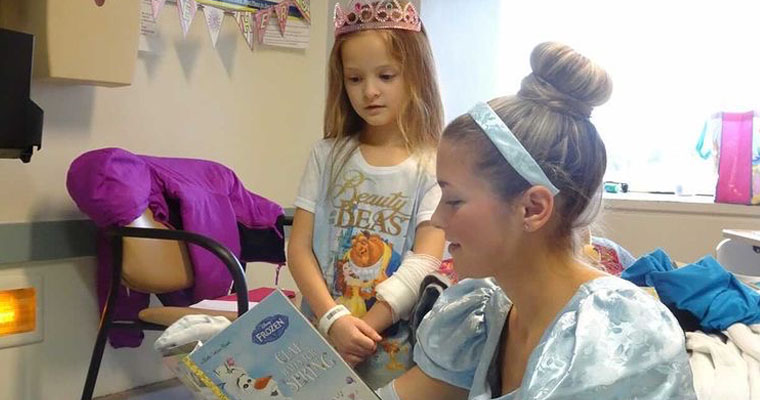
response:
M443 112L413 5L337 5L335 37L324 139L301 179L288 260L304 313L379 387L411 365L404 319L443 253L429 221Z

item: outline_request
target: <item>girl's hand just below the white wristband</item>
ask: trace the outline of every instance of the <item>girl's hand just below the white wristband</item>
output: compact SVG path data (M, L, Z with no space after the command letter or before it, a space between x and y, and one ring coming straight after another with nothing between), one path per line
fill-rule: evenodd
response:
M338 353L354 366L377 350L377 342L383 338L366 322L346 315L333 323L328 332Z

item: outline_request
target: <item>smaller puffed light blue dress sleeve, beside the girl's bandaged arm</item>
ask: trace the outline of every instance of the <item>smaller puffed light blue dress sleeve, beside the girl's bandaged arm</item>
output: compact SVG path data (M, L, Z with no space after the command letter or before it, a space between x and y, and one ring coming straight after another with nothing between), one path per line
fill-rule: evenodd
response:
M470 389L487 342L499 340L509 306L489 279L466 279L446 289L420 323L414 361L428 376Z

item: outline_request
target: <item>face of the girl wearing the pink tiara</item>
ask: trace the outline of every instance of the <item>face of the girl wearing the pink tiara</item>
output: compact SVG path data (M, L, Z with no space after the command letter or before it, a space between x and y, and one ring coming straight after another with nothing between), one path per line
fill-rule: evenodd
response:
M374 30L353 34L343 42L343 80L357 114L369 125L396 123L407 90L401 64L391 56L383 36Z

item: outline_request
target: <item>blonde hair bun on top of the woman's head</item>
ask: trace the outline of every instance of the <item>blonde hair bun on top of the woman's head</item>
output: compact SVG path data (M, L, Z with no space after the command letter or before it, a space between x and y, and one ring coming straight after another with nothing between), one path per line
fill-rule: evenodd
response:
M570 46L541 43L530 55L530 66L533 72L523 79L517 96L552 111L589 118L612 94L607 72Z

